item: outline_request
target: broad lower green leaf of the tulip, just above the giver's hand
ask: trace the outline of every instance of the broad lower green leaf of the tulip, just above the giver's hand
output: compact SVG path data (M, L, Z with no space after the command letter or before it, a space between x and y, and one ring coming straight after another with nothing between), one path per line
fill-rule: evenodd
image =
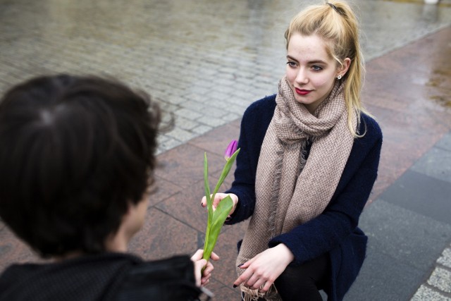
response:
M213 252L216 241L218 240L218 235L221 233L221 228L226 221L230 210L232 210L232 207L233 200L230 195L224 197L214 211L212 222L206 226L206 231L209 234L205 237L203 258L207 261L210 259L211 252Z

